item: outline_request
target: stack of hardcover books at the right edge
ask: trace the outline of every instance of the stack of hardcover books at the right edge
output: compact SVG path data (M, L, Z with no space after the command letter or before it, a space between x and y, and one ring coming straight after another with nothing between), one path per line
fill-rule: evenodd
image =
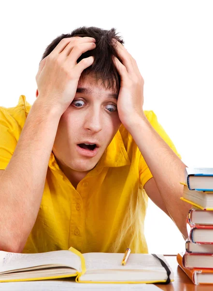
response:
M213 284L213 168L185 168L181 184L181 199L193 207L186 218L185 252L177 261L194 284Z

